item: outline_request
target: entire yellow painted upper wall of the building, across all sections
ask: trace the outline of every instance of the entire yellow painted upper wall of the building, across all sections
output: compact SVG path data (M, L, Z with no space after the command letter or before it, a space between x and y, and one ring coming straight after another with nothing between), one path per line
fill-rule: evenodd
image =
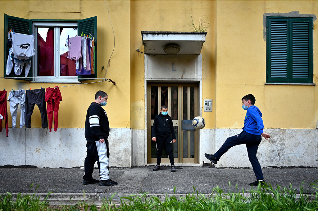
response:
M1 1L3 13L27 19L84 19L97 16L98 77L100 82L61 87L59 128L84 127L86 109L94 93L109 95L105 107L112 128L145 128L144 54L141 31L192 31L200 17L210 22L201 54L202 104L213 99L213 112L203 112L206 129L241 128L245 111L242 96L252 93L263 112L266 128L315 128L318 120L316 86L265 85L266 41L264 13L318 14L318 1ZM3 31L3 25L0 24ZM315 55L317 23L314 22L314 83L318 82ZM3 49L3 42L0 42ZM3 52L0 50L0 57ZM0 60L3 67L3 60ZM104 69L101 67L104 66ZM92 82L92 81L87 81ZM85 83L85 82L84 82ZM0 89L36 89L72 84L29 83L0 78ZM8 103L9 106L9 103ZM19 119L19 117L18 117ZM17 121L19 122L19 120ZM9 110L9 123L11 115ZM40 112L34 109L32 127L40 127Z

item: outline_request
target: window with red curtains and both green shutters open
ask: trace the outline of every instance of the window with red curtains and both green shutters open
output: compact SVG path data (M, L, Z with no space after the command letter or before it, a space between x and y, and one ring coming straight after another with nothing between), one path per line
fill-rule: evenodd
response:
M6 75L6 64L9 55L8 33L35 35L35 55L27 77L24 72L15 75L11 70ZM75 61L67 59L68 47L65 46L68 36L88 35L94 37L93 74L76 76ZM34 82L73 83L97 78L97 17L83 20L28 20L4 14L4 78L29 80ZM88 52L88 51L87 51Z

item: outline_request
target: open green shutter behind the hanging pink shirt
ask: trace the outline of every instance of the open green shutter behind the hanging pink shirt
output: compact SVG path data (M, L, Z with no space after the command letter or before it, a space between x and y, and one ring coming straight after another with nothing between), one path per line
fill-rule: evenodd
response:
M97 16L79 20L77 22L77 33L80 36L91 35L97 41ZM78 76L78 81L93 80L97 78L97 42L94 41L94 74ZM86 79L84 79L86 78Z

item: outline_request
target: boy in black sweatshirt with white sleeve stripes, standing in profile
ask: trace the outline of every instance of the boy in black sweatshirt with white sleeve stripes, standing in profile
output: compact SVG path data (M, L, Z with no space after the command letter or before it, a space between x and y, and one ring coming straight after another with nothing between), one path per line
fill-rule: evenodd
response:
M108 95L103 91L95 94L95 101L88 107L85 121L87 155L84 162L83 184L99 183L100 186L117 185L109 178L108 170L108 136L109 122L106 111L101 107L107 104ZM100 181L92 177L97 161Z

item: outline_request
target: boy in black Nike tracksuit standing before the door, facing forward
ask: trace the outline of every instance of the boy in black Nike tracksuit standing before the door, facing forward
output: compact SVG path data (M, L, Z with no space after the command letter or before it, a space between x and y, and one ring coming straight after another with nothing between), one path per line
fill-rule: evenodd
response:
M157 147L157 165L153 170L161 170L161 155L163 148L165 148L171 163L171 171L175 172L176 167L172 152L172 144L176 142L175 130L173 128L172 119L168 115L168 107L162 105L160 111L161 112L155 117L151 131L152 140L156 142Z

